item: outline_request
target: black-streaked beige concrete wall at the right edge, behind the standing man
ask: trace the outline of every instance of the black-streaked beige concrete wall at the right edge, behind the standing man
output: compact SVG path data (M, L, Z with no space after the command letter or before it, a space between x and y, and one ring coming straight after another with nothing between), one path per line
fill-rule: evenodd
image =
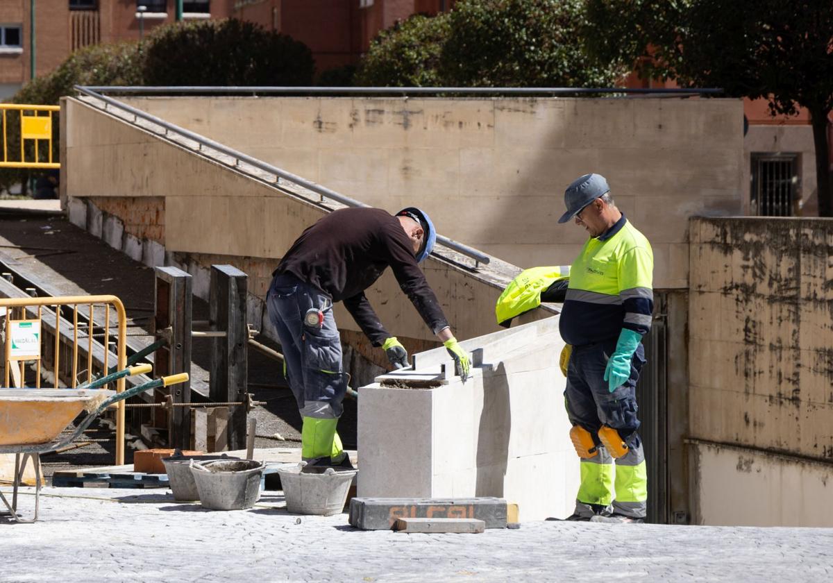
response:
M696 218L690 231L690 436L749 447L782 474L766 482L781 506L750 497L721 524L747 524L752 514L754 524L793 524L782 509L805 470L780 456L833 470L833 222ZM716 516L711 501L727 496L724 462L701 456L704 521Z

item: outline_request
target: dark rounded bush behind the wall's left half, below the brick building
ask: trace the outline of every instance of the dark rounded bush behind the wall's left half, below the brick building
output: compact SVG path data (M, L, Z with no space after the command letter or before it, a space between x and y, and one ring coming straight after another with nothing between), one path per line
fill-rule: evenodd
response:
M147 85L306 86L315 72L307 45L234 18L157 27L146 51Z

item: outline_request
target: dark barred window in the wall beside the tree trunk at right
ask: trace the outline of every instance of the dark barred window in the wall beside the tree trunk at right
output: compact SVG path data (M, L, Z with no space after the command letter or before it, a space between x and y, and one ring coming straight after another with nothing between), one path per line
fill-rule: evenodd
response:
M752 154L751 214L792 217L801 185L799 154Z

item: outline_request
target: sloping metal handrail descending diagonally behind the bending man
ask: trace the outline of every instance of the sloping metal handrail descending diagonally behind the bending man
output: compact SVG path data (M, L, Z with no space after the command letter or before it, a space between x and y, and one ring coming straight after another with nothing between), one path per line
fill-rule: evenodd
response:
M278 178L283 178L288 182L292 182L300 187L306 188L309 191L315 192L319 196L321 196L322 202L325 198L332 198L332 200L340 202L347 207L368 207L368 205L366 205L363 202L358 202L357 200L354 200L350 197L346 197L343 194L340 194L339 192L330 190L327 187L322 187L321 185L318 185L315 182L310 182L305 178L297 176L297 174L292 174L292 172L287 172L286 170L282 170L281 168L272 166L272 164L267 164L267 162L262 162L262 160L257 160L257 158L247 156L246 154L238 152L237 150L234 150L230 147L223 146L219 142L214 142L213 140L205 136L201 136L198 133L194 133L185 129L184 127L179 127L170 122L166 122L165 120L159 117L151 115L150 113L142 112L141 109L129 106L127 105L127 103L122 103L117 99L112 99L112 97L105 97L101 93L96 91L97 88L100 89L101 87L83 87L81 85L75 86L77 92L81 92L89 97L101 100L102 102L112 105L113 107L117 107L118 109L121 109L125 112L129 112L136 117L142 117L142 119L147 120L148 122L155 123L158 126L164 127L168 131L176 132L177 134L187 137L188 139L197 142L201 146L210 147L212 148L212 150L217 150L217 152L222 152L227 156L231 156L237 159L237 161L246 162L249 166L256 167L259 170L268 172L270 174L274 174ZM472 249L467 245L463 245L460 242L456 242L452 239L449 239L448 237L443 237L442 235L438 234L436 236L436 241L444 247L448 247L449 249L461 253L466 257L471 257L471 259L474 259L475 261L475 267L477 267L477 263L488 264L490 262L489 256L484 255L483 253L477 251L476 249Z

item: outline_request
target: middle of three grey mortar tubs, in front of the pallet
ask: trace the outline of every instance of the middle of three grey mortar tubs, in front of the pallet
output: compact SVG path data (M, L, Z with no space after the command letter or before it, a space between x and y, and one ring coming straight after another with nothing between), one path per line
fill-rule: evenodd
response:
M209 510L243 510L260 499L263 462L214 460L190 462L200 504Z

